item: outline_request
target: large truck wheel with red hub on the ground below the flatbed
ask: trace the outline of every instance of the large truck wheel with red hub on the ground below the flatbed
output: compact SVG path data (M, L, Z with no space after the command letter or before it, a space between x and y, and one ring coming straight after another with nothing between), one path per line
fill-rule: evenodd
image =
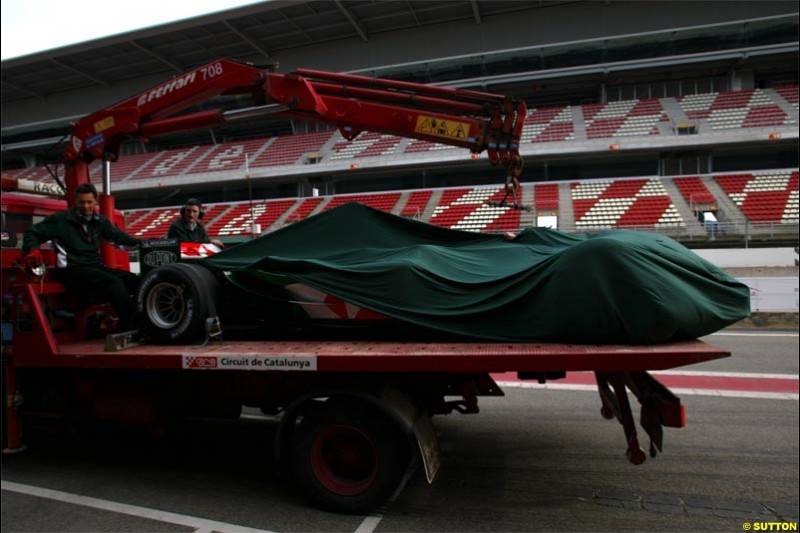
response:
M317 506L365 514L397 489L410 448L399 428L366 404L326 403L295 431L292 468Z

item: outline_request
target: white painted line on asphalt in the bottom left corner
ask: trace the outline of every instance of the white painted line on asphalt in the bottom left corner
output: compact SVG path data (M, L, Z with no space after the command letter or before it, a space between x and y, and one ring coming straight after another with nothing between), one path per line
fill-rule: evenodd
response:
M272 533L263 529L237 526L234 524L226 524L225 522L197 518L195 516L170 513L168 511L159 511L158 509L151 509L149 507L139 507L138 505L128 505L126 503L101 500L99 498L92 498L90 496L81 496L79 494L70 494L69 492L44 489L41 487L34 487L32 485L23 485L20 483L14 483L13 481L3 480L0 488L10 492L27 494L28 496L36 496L37 498L45 498L48 500L81 505L83 507L91 507L93 509L102 509L112 513L125 514L139 518L146 518L149 520L157 520L159 522L193 527L196 530L195 533L206 533L211 531L219 531L220 533Z

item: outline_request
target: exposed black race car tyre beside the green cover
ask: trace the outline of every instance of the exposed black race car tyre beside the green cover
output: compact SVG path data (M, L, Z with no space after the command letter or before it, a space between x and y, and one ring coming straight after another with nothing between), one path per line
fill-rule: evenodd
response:
M199 265L173 263L151 270L136 294L142 332L162 344L201 340L218 298L219 282Z

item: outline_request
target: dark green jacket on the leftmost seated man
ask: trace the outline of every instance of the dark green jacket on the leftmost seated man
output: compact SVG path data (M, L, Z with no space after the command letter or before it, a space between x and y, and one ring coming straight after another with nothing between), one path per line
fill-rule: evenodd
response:
M101 239L129 246L142 242L113 225L103 215L95 213L84 224L78 218L78 211L71 207L25 230L22 251L28 253L43 242L53 241L56 266L59 268L99 265L102 263L99 250Z

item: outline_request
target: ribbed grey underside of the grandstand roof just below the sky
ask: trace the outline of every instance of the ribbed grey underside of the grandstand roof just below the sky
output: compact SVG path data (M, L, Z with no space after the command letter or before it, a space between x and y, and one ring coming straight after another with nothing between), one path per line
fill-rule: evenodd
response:
M279 50L570 3L272 0L2 62L2 103L179 74L218 58L275 62Z

